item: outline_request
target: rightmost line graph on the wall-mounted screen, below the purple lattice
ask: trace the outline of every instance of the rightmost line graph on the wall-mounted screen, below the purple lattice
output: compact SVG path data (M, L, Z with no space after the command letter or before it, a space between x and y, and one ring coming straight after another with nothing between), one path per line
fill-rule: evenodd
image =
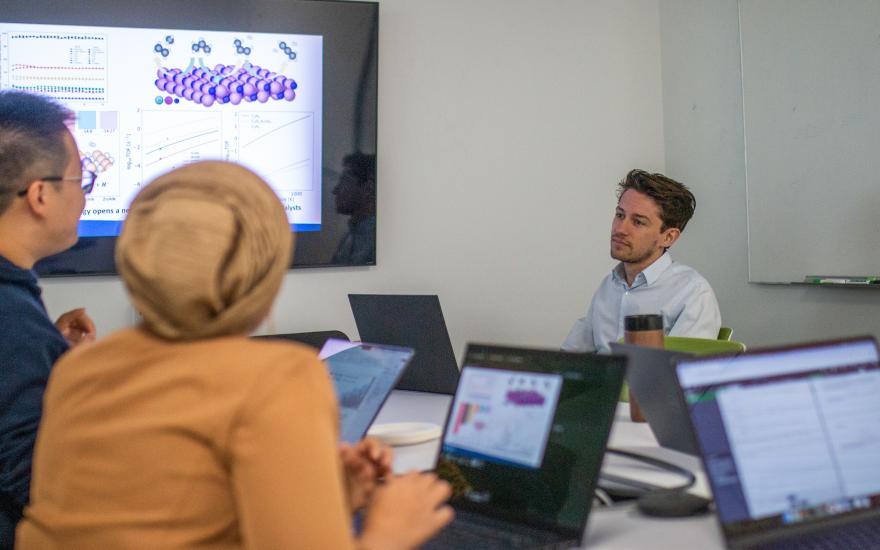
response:
M314 185L315 117L307 112L245 111L235 116L238 161L277 191L310 191ZM284 144L285 154L277 153Z

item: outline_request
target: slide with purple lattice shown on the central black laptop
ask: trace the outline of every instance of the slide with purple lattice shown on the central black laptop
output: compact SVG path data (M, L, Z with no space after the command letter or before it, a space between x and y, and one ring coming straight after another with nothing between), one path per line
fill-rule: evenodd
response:
M462 370L444 450L539 468L562 376L481 367Z

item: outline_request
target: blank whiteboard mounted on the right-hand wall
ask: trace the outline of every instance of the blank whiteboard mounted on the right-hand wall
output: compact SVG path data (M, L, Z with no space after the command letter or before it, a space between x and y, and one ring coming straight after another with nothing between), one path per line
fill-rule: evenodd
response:
M749 280L880 275L880 1L739 8Z

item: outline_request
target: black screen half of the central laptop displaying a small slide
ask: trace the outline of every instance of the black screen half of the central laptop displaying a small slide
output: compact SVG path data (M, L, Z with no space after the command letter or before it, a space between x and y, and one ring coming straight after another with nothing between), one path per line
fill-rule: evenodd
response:
M456 516L423 548L580 545L625 363L469 345L437 459Z

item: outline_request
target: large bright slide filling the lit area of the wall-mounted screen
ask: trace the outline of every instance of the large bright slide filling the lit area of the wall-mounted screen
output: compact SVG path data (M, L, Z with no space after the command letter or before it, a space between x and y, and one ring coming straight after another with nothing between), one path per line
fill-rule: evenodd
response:
M0 15L2 17L2 15ZM321 36L0 23L0 89L52 97L98 174L80 236L117 235L141 187L200 160L265 179L321 226Z

